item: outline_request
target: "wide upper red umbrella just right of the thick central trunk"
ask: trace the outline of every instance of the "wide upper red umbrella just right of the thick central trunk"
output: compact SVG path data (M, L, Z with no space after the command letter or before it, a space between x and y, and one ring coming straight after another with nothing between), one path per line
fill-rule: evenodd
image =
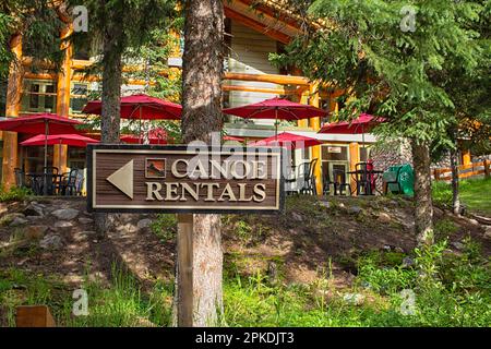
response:
M278 134L278 119L302 120L327 115L326 111L313 106L277 97L252 105L224 109L223 111L246 119L275 119L275 136Z

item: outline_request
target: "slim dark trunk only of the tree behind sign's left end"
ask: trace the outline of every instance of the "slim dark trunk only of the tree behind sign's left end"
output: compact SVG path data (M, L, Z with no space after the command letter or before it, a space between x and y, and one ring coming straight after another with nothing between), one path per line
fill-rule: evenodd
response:
M120 137L120 98L122 82L122 25L118 21L117 11L111 13L108 21L112 23L104 33L103 57L103 110L100 118L100 143L119 143ZM95 229L99 238L106 236L109 229L108 215L97 213Z

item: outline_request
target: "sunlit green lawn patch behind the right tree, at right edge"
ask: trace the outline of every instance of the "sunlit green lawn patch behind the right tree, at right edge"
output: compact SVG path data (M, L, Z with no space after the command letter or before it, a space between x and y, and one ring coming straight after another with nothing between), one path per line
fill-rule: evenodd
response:
M491 178L459 181L460 202L471 212L491 217ZM452 186L445 182L433 183L433 200L436 204L452 206Z

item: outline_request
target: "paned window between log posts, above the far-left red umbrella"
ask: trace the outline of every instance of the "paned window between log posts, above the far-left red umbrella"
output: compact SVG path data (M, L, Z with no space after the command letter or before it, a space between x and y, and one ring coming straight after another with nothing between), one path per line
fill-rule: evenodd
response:
M24 80L22 113L56 112L57 85L49 80Z

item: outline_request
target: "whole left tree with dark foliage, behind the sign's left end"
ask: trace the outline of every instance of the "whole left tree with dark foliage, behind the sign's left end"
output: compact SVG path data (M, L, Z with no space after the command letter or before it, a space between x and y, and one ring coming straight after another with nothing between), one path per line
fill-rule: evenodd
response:
M71 5L85 5L88 12L88 33L79 33L75 43L94 47L100 43L103 70L101 143L119 143L120 98L124 57L149 39L155 28L165 27L173 16L172 0L70 0ZM139 62L142 63L142 62ZM104 234L107 215L96 215L96 230Z

